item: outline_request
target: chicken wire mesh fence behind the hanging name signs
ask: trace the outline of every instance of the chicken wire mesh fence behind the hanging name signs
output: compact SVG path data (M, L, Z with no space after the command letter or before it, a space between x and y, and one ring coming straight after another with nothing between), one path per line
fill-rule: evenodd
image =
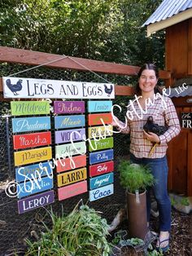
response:
M11 74L23 71L28 66L20 64L1 64L1 77L8 77ZM98 74L90 72L80 72L67 69L54 69L54 68L36 68L24 73L16 74L14 77L31 77L31 78L43 78L54 80L69 80L69 81L81 81L81 82L103 82L103 78L108 82L127 85L131 82L131 77L120 76L116 74ZM120 119L124 118L125 106L128 102L128 97L117 96L113 100L113 104L119 104L123 107L122 113L116 113ZM11 198L6 195L5 183L15 179L15 167L13 162L13 144L12 144L12 130L11 130L11 110L10 103L2 101L0 102L0 256L7 255L12 252L13 249L18 249L24 245L24 239L31 236L35 227L37 227L38 219L45 215L46 211L43 208L37 210L31 210L24 214L18 214L17 198ZM53 133L54 129L51 129ZM119 175L117 166L119 160L124 155L129 154L129 135L114 134L114 194L112 196L104 197L98 201L88 202L88 192L79 196L73 196L64 201L58 201L55 196L55 203L51 205L54 212L60 213L63 207L63 211L68 214L75 205L82 199L84 203L88 202L90 207L95 210L103 212L103 218L107 218L107 222L111 223L111 220L115 217L116 213L122 205L124 205L124 189L120 187ZM52 138L54 136L52 135ZM53 147L54 148L54 147ZM46 206L50 209L50 205ZM47 221L48 221L47 217Z

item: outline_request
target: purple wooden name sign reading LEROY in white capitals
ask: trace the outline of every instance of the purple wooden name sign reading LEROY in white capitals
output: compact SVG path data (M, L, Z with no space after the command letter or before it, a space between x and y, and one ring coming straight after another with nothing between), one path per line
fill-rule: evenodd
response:
M24 198L17 202L19 214L24 214L29 210L37 209L41 206L50 205L55 202L54 191L50 190L35 196Z

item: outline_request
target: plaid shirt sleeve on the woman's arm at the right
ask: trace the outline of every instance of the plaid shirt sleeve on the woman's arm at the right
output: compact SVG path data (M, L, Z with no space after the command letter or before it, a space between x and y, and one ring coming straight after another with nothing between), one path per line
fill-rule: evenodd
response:
M179 119L177 117L177 112L175 106L172 104L172 99L167 98L166 100L166 109L164 110L164 118L166 125L168 126L168 130L164 133L164 135L160 135L160 144L168 143L172 138L176 137L180 131L181 126Z

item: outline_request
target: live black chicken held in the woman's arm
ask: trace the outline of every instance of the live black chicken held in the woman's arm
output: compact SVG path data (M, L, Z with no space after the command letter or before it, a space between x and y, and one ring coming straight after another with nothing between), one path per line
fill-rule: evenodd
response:
M143 130L146 132L153 132L155 135L163 135L166 130L168 130L168 126L159 126L155 124L153 121L153 117L150 116L147 118L146 124L143 126Z

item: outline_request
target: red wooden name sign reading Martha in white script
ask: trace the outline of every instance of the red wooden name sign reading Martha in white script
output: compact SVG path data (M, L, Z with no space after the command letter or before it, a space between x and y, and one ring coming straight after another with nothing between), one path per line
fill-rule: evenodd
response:
M38 132L27 135L13 135L14 149L33 148L37 146L46 146L51 143L50 131Z

